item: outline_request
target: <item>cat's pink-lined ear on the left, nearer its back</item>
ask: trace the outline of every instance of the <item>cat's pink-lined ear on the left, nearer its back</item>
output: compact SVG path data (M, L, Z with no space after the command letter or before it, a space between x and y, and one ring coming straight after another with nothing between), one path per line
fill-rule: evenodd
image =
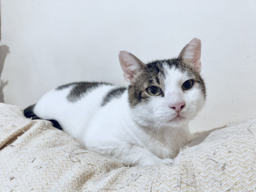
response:
M131 82L134 75L142 70L145 64L128 51L120 51L118 56L125 81Z

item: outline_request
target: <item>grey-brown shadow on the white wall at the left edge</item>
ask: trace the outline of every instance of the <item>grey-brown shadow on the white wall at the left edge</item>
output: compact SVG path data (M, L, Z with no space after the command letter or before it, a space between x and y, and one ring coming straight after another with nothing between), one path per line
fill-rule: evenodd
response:
M1 9L0 9L0 41L2 38L2 34L1 34ZM3 64L4 61L6 59L7 54L9 53L9 47L6 45L2 45L0 46L0 102L3 103L4 102L4 98L3 98L3 87L7 85L8 81L2 81L1 80L1 75L3 72Z

